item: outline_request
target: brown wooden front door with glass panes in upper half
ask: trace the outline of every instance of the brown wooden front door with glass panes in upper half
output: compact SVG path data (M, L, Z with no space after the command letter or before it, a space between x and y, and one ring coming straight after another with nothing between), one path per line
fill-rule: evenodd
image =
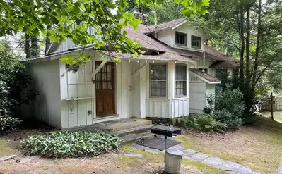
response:
M102 62L96 62L98 68ZM96 74L96 116L108 116L115 113L114 63L107 62Z

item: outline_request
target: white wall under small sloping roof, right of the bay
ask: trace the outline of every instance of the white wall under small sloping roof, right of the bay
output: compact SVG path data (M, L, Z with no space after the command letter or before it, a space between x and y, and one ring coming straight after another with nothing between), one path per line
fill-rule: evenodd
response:
M201 113L206 106L206 82L189 76L189 113Z

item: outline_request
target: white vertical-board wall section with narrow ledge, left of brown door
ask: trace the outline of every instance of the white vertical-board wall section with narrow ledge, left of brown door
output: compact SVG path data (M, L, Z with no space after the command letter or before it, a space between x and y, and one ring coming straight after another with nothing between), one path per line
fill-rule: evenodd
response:
M93 99L69 100L71 98L94 97L92 82L93 61L81 66L76 73L66 70L66 63L60 63L61 69L61 123L63 128L93 124ZM88 111L90 114L88 114Z

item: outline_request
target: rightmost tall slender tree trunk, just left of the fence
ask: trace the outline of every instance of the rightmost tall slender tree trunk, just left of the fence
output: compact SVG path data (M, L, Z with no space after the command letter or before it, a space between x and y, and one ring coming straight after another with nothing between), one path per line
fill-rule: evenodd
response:
M259 8L258 8L258 18L257 18L257 45L256 52L254 55L254 70L252 76L252 91L254 91L255 85L257 83L257 67L259 66L259 44L260 37L262 35L262 0L259 0Z

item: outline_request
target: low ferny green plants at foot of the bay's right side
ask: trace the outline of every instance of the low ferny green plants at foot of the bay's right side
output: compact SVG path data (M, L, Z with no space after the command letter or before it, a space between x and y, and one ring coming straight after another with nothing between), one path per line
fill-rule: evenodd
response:
M202 114L199 116L185 116L182 117L185 127L194 128L202 132L210 132L214 129L225 130L227 125L213 118L209 114Z

